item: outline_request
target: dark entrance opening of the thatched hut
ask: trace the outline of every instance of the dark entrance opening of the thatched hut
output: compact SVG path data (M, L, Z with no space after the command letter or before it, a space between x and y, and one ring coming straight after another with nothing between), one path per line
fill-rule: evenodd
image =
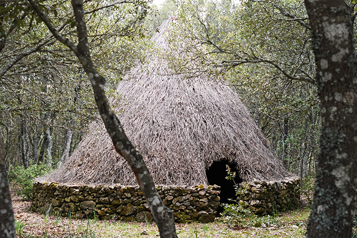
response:
M226 166L231 168L231 172L236 172L236 177L234 181L232 179L226 179L227 169ZM237 199L236 190L235 190L235 182L237 185L242 182L242 179L239 177L239 173L237 170L237 166L228 161L215 161L212 165L206 170L206 176L208 183L210 185L218 185L221 187L221 193L219 195L220 201L219 203L233 203L229 199ZM223 211L223 207L219 206L217 208L217 215L219 215Z

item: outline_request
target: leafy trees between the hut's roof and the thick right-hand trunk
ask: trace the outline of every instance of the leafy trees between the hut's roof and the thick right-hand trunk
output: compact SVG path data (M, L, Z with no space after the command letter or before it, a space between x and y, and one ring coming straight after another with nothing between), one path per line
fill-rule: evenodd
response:
M319 148L307 19L301 0L181 1L170 44L183 52L168 56L177 71L206 71L231 83L277 156L295 173Z

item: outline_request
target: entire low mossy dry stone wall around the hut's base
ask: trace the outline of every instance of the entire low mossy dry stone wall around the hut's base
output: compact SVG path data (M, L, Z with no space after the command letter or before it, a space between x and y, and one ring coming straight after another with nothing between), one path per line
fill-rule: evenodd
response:
M173 210L176 222L213 221L219 206L220 187L202 184L189 186L161 186L159 194ZM295 180L255 181L240 184L240 203L251 204L254 213L272 213L274 209L288 209L299 202ZM142 220L151 216L138 186L87 186L34 182L33 205L46 207L52 203L53 213L86 218L95 213L100 219ZM140 214L140 215L139 215ZM150 215L149 215L150 214Z

